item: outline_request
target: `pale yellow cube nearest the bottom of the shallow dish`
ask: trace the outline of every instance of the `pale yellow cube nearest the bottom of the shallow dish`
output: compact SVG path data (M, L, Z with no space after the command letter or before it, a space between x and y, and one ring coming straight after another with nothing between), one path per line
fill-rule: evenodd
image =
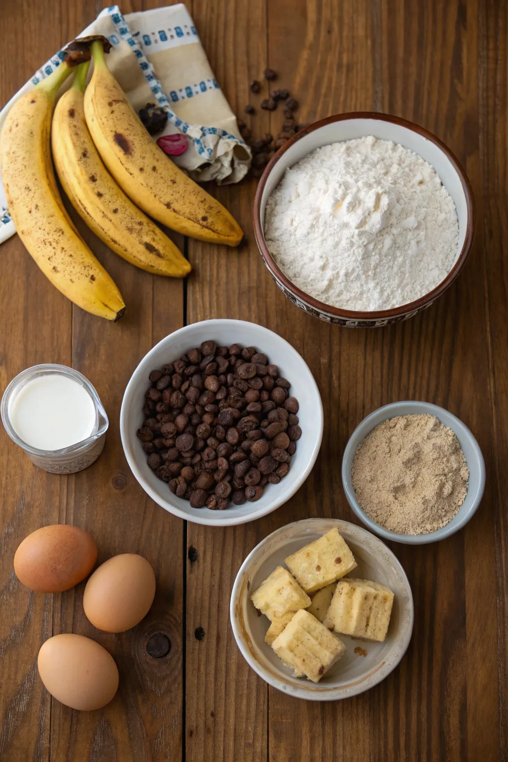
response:
M272 648L296 677L303 673L313 683L318 683L346 651L341 640L304 610L296 612L273 641Z

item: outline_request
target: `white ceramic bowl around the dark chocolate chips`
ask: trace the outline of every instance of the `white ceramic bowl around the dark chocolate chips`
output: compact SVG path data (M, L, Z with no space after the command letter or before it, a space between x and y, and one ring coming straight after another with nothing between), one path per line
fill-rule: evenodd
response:
M281 479L279 484L267 485L258 501L243 505L231 504L225 511L192 508L189 501L173 495L168 484L158 479L149 467L146 453L136 437L136 431L144 420L142 405L149 386L150 371L177 360L193 347L199 347L206 339L214 339L222 346L238 343L245 347L257 347L260 352L267 354L270 363L279 368L281 376L291 382L290 393L298 399L300 405L298 416L302 437L296 443L296 453L292 456L289 474ZM152 500L182 519L209 526L226 527L246 523L275 511L302 486L321 447L323 405L318 386L305 360L279 335L262 325L242 320L205 320L174 331L143 357L123 395L120 436L130 469Z

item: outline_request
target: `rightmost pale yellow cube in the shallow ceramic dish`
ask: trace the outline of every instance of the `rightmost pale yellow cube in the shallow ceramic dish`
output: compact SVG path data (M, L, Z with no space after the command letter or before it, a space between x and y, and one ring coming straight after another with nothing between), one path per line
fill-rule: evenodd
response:
M353 638L382 642L388 632L394 594L384 584L341 579L324 617L324 625Z

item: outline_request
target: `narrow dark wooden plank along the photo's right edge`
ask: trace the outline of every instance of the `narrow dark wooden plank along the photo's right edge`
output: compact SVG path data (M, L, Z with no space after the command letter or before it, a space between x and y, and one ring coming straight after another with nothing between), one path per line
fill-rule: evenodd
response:
M506 192L506 108L508 107L506 67L508 65L508 8L506 4L480 4L479 39L481 75L479 79L480 159L482 184L478 191L483 207L484 227L478 245L484 248L483 281L487 299L488 379L490 392L491 444L490 462L494 504L495 562L497 581L497 663L499 680L499 725L492 728L499 735L499 757L508 758L508 520L506 501L508 477L503 453L508 451L508 267L506 241L508 216ZM487 374L485 373L485 376ZM480 643L478 642L478 650ZM494 656L494 655L493 655ZM494 658L493 658L494 661ZM484 687L484 693L485 693ZM497 697L496 697L497 698ZM494 723L493 723L494 724ZM474 728L471 725L471 735Z

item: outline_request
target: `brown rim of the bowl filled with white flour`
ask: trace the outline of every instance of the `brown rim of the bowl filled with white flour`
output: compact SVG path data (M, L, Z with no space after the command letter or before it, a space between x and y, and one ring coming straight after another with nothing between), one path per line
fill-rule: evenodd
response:
M291 280L289 280L288 277L286 277L283 271L280 270L280 267L276 264L275 260L270 254L270 250L264 238L263 227L261 226L261 197L263 196L264 187L267 184L270 172L276 165L276 162L282 158L284 153L289 148L291 148L291 146L293 146L298 140L301 140L303 137L307 136L309 133L312 133L315 130L319 130L321 127L324 127L327 124L353 119L373 119L397 124L398 126L405 127L407 130L411 130L423 138L430 140L430 142L433 142L434 145L437 146L446 155L446 157L449 159L449 162L452 164L453 168L458 174L458 178L461 181L462 188L464 190L467 209L464 244L462 245L462 249L458 255L457 260L455 261L455 264L446 275L444 280L442 280L441 283L438 283L432 291L429 291L423 296L420 296L419 299L414 299L413 302L408 302L398 307L391 307L391 309L379 309L374 312L365 312L354 309L342 309L340 307L334 307L330 304L320 302L318 299L315 299L314 296L310 296L310 294L305 293L305 291L299 289L299 287L297 287L294 283L292 283ZM331 117L326 117L325 119L321 119L317 122L309 124L303 130L300 130L294 136L289 138L289 140L287 140L284 145L272 156L270 162L268 162L263 174L260 177L260 181L257 184L256 195L254 197L252 217L257 248L259 248L264 264L266 264L270 274L272 274L275 280L282 283L286 290L289 290L289 292L297 296L303 303L306 303L309 306L312 306L314 309L317 309L318 312L324 312L327 315L334 315L347 321L389 320L391 318L398 318L402 315L406 315L408 312L418 312L423 307L430 306L430 304L435 299L437 299L438 296L441 296L452 285L453 281L456 277L458 277L458 274L462 270L462 267L464 267L468 254L471 251L471 246L474 239L474 230L476 226L476 211L474 205L473 189L464 168L462 168L462 165L458 161L458 158L455 156L455 154L448 148L448 146L445 145L442 140L436 137L436 135L433 133L430 133L429 130L426 130L424 127L415 124L414 122L410 122L407 119L395 117L391 114L382 114L376 111L350 111L344 114L334 114Z

